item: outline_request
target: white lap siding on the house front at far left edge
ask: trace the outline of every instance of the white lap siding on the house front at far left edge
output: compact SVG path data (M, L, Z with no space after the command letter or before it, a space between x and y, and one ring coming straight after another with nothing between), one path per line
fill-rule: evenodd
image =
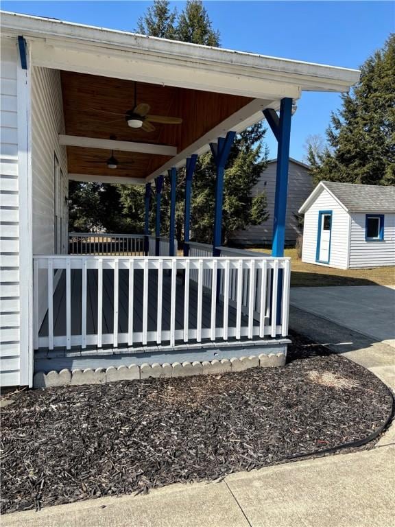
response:
M20 384L18 60L15 39L1 39L0 384Z

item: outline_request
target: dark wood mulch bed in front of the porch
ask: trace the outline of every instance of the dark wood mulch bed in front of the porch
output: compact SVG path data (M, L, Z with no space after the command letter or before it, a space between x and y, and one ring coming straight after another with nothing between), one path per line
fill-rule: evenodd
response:
M2 511L216 480L383 424L379 379L293 340L283 368L17 394L1 412Z

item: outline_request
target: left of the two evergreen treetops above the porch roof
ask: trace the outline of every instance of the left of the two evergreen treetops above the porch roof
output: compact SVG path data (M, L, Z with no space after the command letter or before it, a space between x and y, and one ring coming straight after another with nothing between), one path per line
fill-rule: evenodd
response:
M159 38L176 38L177 11L170 9L168 0L155 0L139 18L136 32Z

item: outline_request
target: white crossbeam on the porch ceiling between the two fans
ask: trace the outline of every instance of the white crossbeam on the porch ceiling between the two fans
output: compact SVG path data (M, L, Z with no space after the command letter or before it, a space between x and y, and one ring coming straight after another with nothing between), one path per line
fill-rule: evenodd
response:
M135 143L134 141L115 141L113 139L96 139L95 137L79 137L77 135L59 134L59 143L64 146L117 150L119 152L139 152L140 154L158 154L160 156L175 156L177 154L177 148L175 146Z

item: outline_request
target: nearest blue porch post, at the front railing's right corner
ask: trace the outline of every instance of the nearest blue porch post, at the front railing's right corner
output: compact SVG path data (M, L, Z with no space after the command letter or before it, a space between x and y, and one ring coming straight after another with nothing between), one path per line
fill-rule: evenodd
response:
M280 117L272 108L263 110L267 123L278 141L276 196L274 198L274 218L272 237L272 256L283 257L285 246L285 218L287 214L289 140L291 137L292 99L285 97L280 102ZM278 270L277 321L281 319L283 270Z

